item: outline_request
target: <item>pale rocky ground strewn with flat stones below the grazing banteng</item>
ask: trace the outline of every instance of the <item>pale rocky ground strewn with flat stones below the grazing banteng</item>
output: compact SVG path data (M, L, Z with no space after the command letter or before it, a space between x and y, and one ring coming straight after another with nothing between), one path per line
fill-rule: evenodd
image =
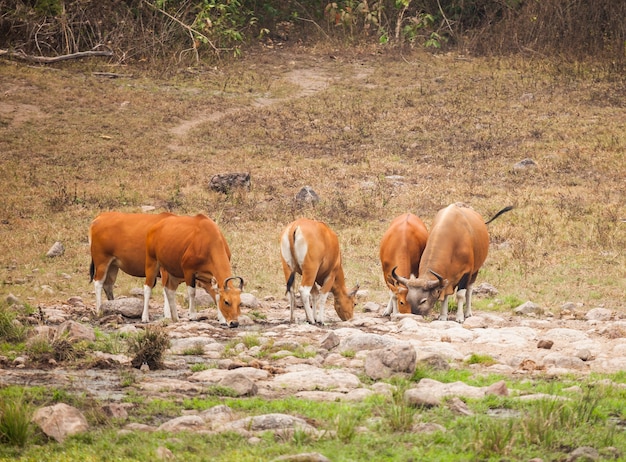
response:
M155 303L150 313L152 324L164 325L171 339L163 369L146 365L134 369L132 358L101 352L86 369L55 361L33 364L26 356L13 361L0 357L0 385L45 385L86 392L107 403L113 414L123 414L121 403L131 391L146 398L176 399L202 395L211 386L267 399L293 395L311 400L361 400L372 393L389 393L391 386L385 378L408 376L421 362L434 369L470 367L477 374L503 376L558 377L626 370L626 319L604 308L585 310L570 303L559 313L542 313L539 307L526 304L518 313L475 312L460 325L413 315L386 318L381 316L383 305L361 302L354 319L341 322L331 300L327 323L320 327L305 323L303 310L299 310L298 322L289 324L284 299L257 300L251 294L242 299L246 306L237 329L219 325L214 305L200 311L197 321L187 321L185 313L179 323L164 323ZM90 315L85 304L74 297L60 306L42 307L37 332L50 338L65 332L69 338L93 340L94 328L132 333L146 327L140 323L141 298L105 302L105 315L100 319L93 312ZM488 355L494 362L468 365L471 355ZM208 367L196 367L193 372L198 363ZM123 386L124 373L127 376L129 371L134 383ZM450 396L486 393L515 391L508 390L504 381L472 387L423 379L406 398L432 406ZM228 409L213 412L225 414L210 419L184 416L163 425L206 429L210 420L213 426L250 428L250 422L234 419ZM265 419L270 428L295 422L291 418L286 423L288 416ZM267 429L265 424L259 425Z

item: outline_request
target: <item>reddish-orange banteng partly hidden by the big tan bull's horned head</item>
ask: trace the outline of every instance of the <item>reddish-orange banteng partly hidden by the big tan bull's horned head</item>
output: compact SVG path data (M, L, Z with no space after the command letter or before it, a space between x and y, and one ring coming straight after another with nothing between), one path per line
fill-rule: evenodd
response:
M416 276L419 272L420 258L426 247L428 230L424 222L412 213L396 217L380 241L380 263L383 267L385 283L391 291L391 297L383 316L391 313L411 313L417 310L415 299L408 304L407 286L391 275L395 269L404 278Z

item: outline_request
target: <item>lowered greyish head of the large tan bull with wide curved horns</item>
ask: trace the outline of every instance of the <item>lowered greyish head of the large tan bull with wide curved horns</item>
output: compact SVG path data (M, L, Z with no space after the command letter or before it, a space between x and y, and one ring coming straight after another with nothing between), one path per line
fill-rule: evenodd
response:
M391 270L391 275L397 282L398 290L398 311L401 313L427 315L433 308L441 295L441 291L447 287L448 280L443 279L440 275L429 270L437 279L416 278L411 275L410 278L398 276L396 269ZM406 289L402 290L402 286ZM402 295L401 295L402 294ZM405 299L404 311L403 305L400 304L400 297Z

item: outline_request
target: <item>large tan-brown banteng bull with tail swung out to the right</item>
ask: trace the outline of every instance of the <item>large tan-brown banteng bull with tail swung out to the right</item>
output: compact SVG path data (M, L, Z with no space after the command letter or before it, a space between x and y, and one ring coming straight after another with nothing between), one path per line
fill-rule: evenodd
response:
M418 277L407 279L398 276L395 269L391 272L394 279L407 286L409 303L416 301L417 309L411 310L413 314L428 314L437 300L442 299L439 319L447 320L448 296L458 288L456 321L462 323L472 315L472 286L489 250L486 225L512 208L505 207L487 222L483 222L478 212L461 203L451 204L437 213Z

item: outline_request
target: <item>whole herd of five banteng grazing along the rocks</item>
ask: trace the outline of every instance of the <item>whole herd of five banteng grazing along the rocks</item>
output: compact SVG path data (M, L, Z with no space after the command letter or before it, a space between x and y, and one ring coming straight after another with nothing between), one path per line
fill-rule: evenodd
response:
M471 316L472 286L489 249L487 224L511 209L505 207L485 222L469 206L451 204L437 213L430 233L416 215L406 213L395 218L380 241L383 277L391 293L383 315L426 315L441 300L439 319L447 320L448 297L456 292L456 321L462 323ZM142 322L149 322L150 296L160 276L166 318L178 321L176 289L184 282L190 320L196 317L199 285L215 300L220 323L239 325L244 281L232 274L226 238L207 216L105 212L91 223L89 245L98 315L102 290L108 300L113 300L113 285L122 270L145 278ZM339 239L328 225L305 218L290 223L280 236L280 255L290 322L295 321L298 274L300 299L309 323L324 324L329 293L339 318L353 318L359 285L348 291Z

